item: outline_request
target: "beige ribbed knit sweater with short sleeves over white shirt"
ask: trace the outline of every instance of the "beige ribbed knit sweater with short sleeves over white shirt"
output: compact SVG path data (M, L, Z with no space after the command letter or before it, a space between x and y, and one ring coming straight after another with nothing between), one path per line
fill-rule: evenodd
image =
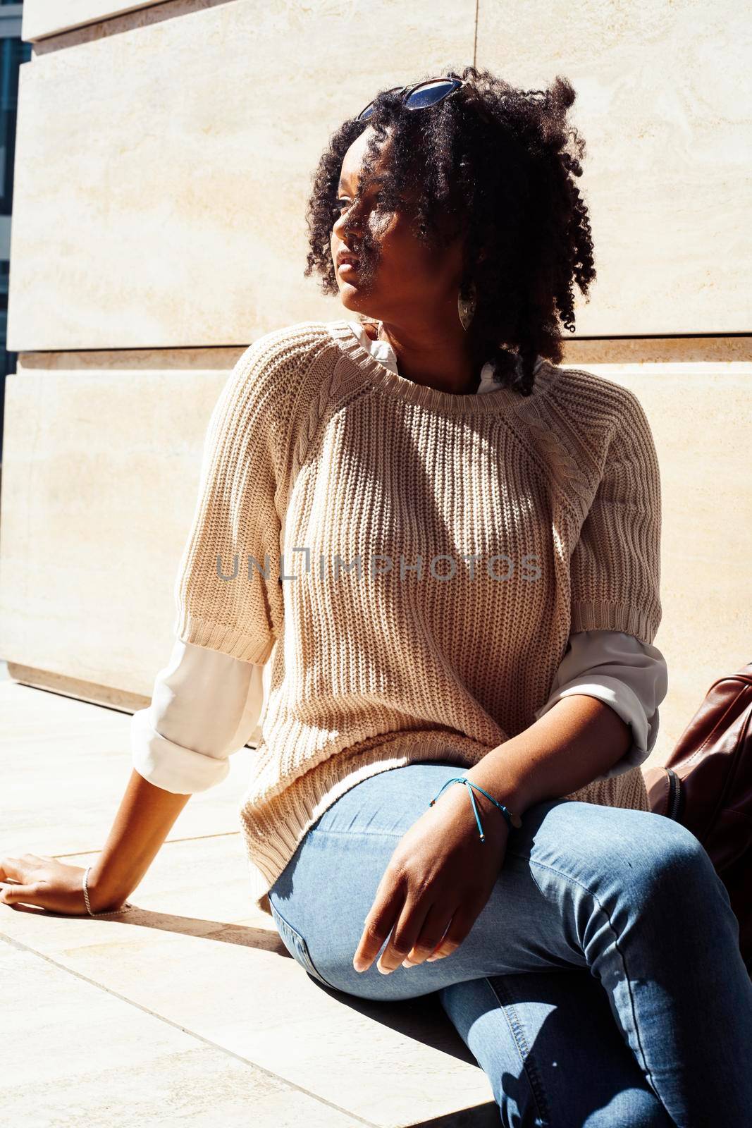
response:
M255 904L354 784L471 767L529 728L574 631L652 643L661 485L636 396L540 361L451 395L345 320L268 333L211 416L175 584L184 642L265 662L239 813ZM648 810L639 769L567 799Z

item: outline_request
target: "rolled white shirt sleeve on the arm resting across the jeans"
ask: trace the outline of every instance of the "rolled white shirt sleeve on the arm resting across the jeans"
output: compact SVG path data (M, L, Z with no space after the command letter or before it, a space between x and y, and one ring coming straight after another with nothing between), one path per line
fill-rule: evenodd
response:
M658 706L669 688L666 662L656 646L622 631L576 631L556 672L551 694L533 715L563 697L586 694L605 702L631 728L632 743L600 778L643 764L658 735Z

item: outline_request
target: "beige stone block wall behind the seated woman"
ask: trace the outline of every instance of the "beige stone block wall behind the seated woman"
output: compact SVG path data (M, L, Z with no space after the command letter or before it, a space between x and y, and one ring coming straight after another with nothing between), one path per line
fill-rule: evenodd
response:
M742 17L729 0L480 0L477 24L475 0L26 0L0 656L124 707L150 694L227 372L258 335L342 314L302 275L320 151L380 87L475 60L577 91L599 276L565 362L631 387L655 434L667 754L752 659Z

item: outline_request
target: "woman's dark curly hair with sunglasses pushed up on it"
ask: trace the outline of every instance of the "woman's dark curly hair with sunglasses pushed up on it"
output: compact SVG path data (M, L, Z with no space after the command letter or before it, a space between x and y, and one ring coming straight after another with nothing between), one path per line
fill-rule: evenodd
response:
M494 380L527 396L536 356L555 364L564 358L559 324L575 331L573 283L586 296L595 277L587 208L574 179L582 176L585 142L566 121L575 91L561 76L548 90L519 90L476 67L448 77L469 85L417 112L382 90L369 118L348 118L331 135L308 204L304 276L316 270L322 292L338 296L330 237L342 162L372 127L360 195L389 131L379 208L405 208L402 193L410 190L418 239L441 247L465 232L460 291L468 297L475 285L474 363L479 369L490 361ZM379 248L368 233L359 253L361 274L364 266L372 272Z

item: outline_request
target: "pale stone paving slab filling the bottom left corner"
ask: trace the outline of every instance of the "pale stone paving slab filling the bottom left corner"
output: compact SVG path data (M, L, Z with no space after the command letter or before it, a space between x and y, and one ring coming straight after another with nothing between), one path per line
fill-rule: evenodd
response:
M3 1125L363 1123L33 952L0 945L0 976Z

